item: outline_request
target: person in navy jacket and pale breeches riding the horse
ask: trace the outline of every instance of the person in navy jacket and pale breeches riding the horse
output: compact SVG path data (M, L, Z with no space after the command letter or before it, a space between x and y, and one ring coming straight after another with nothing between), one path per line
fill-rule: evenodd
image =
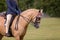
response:
M17 0L6 0L7 3L7 12L6 12L6 36L10 36L8 33L10 21L14 15L19 15L20 10L18 8Z

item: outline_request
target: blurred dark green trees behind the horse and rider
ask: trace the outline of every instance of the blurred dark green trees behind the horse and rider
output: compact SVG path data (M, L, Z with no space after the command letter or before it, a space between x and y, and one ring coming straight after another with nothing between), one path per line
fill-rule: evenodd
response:
M60 0L18 0L18 5L22 11L29 8L42 8L49 16L60 17ZM0 0L0 12L6 10L6 0Z

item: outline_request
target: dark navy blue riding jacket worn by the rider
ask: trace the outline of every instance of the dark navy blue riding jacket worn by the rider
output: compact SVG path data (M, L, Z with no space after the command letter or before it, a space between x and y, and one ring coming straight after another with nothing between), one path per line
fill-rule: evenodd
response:
M16 1L6 0L7 3L7 14L20 14L21 10L18 8Z

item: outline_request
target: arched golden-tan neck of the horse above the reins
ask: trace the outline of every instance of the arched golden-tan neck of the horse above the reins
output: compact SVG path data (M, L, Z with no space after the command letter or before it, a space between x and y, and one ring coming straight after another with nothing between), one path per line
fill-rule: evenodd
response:
M31 20L32 18L35 18L35 16L37 15L37 12L38 12L38 10L29 9L29 10L22 12L22 15L24 17L28 18L29 20Z

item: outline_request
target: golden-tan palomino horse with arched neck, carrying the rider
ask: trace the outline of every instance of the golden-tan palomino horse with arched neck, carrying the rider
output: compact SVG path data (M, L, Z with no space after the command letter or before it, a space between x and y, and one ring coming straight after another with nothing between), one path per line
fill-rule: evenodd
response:
M26 34L27 26L30 22L34 23L36 28L39 27L40 19L42 16L42 10L28 9L20 14L18 21L18 30L15 29L15 23L17 17L14 19L11 25L11 33L16 40L23 40ZM4 17L0 16L0 40L5 36Z

